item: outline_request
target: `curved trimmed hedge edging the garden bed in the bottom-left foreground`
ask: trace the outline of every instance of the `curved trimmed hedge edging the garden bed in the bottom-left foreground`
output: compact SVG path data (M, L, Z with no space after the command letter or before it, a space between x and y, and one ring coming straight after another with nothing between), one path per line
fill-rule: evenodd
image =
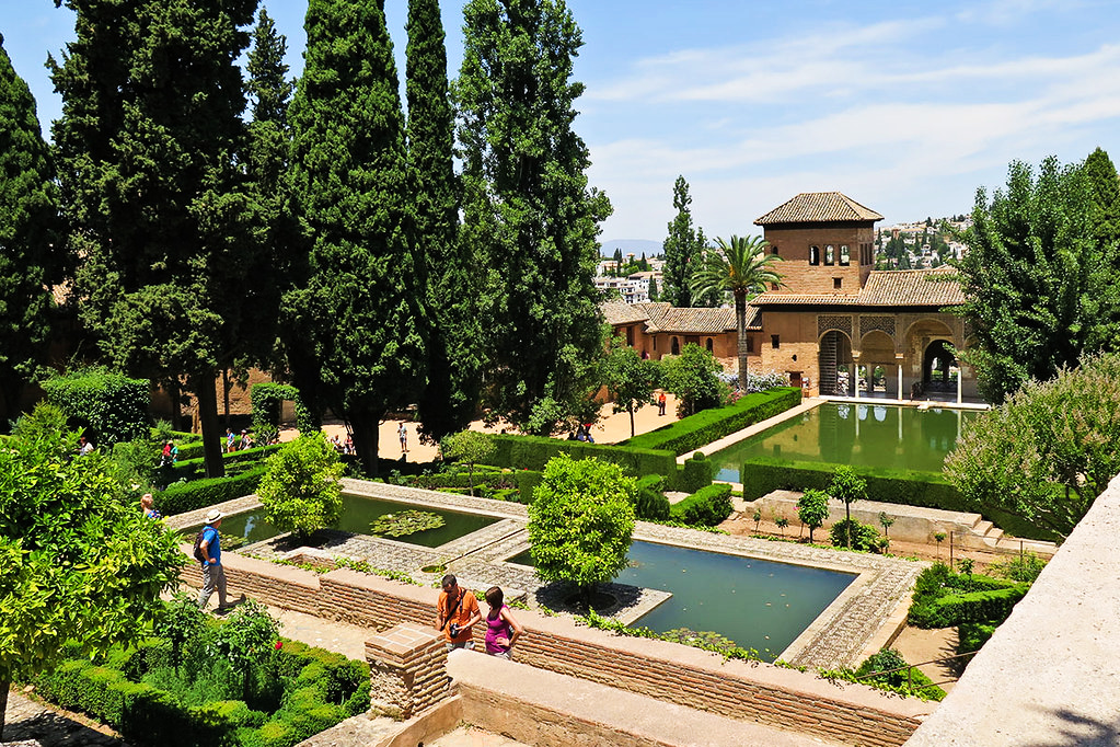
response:
M124 657L124 669L134 670L134 660L147 653L144 646L136 650ZM161 747L291 747L370 707L365 662L289 641L277 653L277 663L290 683L281 708L271 716L240 700L185 707L164 690L86 660L67 660L38 675L35 684L47 700L88 713L133 744Z

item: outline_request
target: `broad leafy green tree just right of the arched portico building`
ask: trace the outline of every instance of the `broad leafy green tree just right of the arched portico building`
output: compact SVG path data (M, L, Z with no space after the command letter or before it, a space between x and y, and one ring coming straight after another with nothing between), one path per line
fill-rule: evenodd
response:
M976 335L961 356L990 401L1002 402L1032 379L1053 377L1082 353L1114 348L1099 325L1120 309L1120 268L1102 254L1094 214L1084 169L1054 157L1037 177L1027 164L1012 162L1006 189L990 202L978 190L964 235L969 251L958 263L965 297L958 312Z

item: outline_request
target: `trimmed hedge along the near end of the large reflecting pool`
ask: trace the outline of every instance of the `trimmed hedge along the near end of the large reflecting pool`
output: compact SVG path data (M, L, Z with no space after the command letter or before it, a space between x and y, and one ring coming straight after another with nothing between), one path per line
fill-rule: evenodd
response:
M774 457L748 459L739 471L743 499L754 501L771 491L828 491L837 465L819 461L787 461ZM978 512L984 519L1015 536L1029 540L1053 540L1045 530L1012 514L990 506L978 506L937 473L913 469L859 467L852 469L867 480L867 499L923 508Z

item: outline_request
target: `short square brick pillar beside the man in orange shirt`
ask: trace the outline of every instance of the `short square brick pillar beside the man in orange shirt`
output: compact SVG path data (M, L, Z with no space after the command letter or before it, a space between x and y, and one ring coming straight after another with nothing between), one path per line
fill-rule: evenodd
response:
M439 634L402 623L365 642L370 663L370 709L407 719L451 694L447 652Z

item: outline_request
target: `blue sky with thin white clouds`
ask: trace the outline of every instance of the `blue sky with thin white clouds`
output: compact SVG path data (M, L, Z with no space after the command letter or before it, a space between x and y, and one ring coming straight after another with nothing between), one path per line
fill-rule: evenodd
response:
M0 0L0 32L47 122L43 67L73 38L52 0ZM445 3L461 59L461 0ZM265 3L301 67L306 2ZM405 0L388 0L402 58ZM1014 159L1120 158L1114 0L572 0L587 91L576 129L615 207L604 240L665 236L678 175L709 236L800 192L840 190L887 222L968 212ZM403 69L403 68L402 68Z

